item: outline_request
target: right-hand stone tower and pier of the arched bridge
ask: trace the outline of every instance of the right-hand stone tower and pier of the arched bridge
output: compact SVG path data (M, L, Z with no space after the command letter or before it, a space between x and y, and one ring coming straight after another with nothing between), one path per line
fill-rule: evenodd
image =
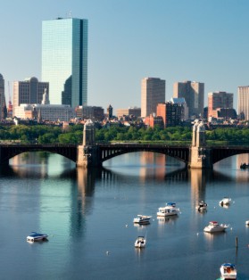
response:
M211 169L211 150L206 147L205 127L203 121L195 121L193 126L192 145L190 147L190 161L188 167L191 169Z

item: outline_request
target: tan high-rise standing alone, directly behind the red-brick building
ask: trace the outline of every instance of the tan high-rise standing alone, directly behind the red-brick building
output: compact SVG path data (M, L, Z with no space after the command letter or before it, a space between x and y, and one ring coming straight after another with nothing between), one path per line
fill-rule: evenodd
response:
M156 113L158 103L165 102L165 80L143 78L141 82L141 117Z

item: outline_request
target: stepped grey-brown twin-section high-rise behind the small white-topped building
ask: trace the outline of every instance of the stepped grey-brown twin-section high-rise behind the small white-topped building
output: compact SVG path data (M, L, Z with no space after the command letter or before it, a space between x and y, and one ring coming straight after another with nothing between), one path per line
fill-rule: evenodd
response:
M203 117L204 107L204 84L199 82L174 83L173 97L184 97L188 107L188 117Z

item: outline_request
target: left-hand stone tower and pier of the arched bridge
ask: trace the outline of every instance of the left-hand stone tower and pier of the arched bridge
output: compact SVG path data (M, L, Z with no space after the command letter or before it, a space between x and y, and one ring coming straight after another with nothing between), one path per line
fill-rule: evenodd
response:
M78 146L76 164L84 168L102 165L95 145L95 124L91 119L87 119L84 125L83 144Z

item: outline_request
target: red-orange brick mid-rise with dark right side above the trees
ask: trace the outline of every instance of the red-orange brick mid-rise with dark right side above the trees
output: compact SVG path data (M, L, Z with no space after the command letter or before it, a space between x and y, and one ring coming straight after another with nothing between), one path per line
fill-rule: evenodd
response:
M176 127L182 121L183 105L178 103L159 103L156 107L157 117L162 117L164 128Z

